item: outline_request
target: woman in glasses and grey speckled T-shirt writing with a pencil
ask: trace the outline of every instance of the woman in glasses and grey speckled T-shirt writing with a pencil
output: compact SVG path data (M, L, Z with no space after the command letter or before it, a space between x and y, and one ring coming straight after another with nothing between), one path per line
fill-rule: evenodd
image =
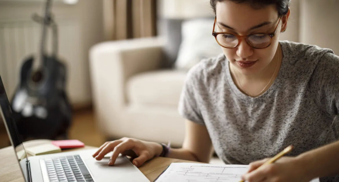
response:
M208 162L214 149L226 164L249 164L249 182L338 181L339 57L330 49L278 41L290 0L211 0L213 35L223 50L187 75L179 103L185 122L181 149L122 138L113 150L142 165L155 156ZM293 144L291 157L258 168ZM255 161L255 162L253 162Z

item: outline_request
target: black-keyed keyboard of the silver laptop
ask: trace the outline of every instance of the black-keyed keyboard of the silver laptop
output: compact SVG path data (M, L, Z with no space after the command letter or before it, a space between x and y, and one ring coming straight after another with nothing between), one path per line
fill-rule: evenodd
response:
M44 160L50 182L94 182L79 155Z

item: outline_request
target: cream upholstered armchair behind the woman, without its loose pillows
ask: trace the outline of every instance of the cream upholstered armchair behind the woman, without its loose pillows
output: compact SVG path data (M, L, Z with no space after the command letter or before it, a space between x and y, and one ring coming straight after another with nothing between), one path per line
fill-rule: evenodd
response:
M89 51L95 113L107 137L182 144L177 104L186 72L159 69L163 46L160 38L144 38L104 42Z

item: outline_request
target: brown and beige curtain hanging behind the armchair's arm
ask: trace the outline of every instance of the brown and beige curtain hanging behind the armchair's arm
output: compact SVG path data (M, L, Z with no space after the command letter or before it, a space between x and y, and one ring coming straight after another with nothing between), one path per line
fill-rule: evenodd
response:
M156 36L156 0L103 0L106 40Z

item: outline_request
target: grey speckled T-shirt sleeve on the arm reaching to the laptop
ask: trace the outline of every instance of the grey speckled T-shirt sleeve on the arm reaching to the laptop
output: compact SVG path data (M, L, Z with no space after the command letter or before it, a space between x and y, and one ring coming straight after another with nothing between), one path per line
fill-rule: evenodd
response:
M201 112L198 105L198 88L199 82L196 72L196 67L193 67L188 71L185 83L180 95L178 111L185 119L191 120L198 124L205 124L201 116Z

